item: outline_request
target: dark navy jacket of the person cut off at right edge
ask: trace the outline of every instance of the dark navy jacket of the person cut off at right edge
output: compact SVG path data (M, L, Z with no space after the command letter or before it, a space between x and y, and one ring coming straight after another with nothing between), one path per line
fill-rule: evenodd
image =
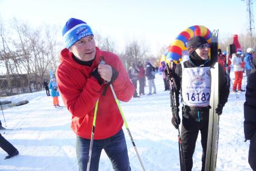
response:
M254 65L256 66L256 64ZM256 69L253 69L248 77L243 107L245 139L251 140L252 135L256 132Z

